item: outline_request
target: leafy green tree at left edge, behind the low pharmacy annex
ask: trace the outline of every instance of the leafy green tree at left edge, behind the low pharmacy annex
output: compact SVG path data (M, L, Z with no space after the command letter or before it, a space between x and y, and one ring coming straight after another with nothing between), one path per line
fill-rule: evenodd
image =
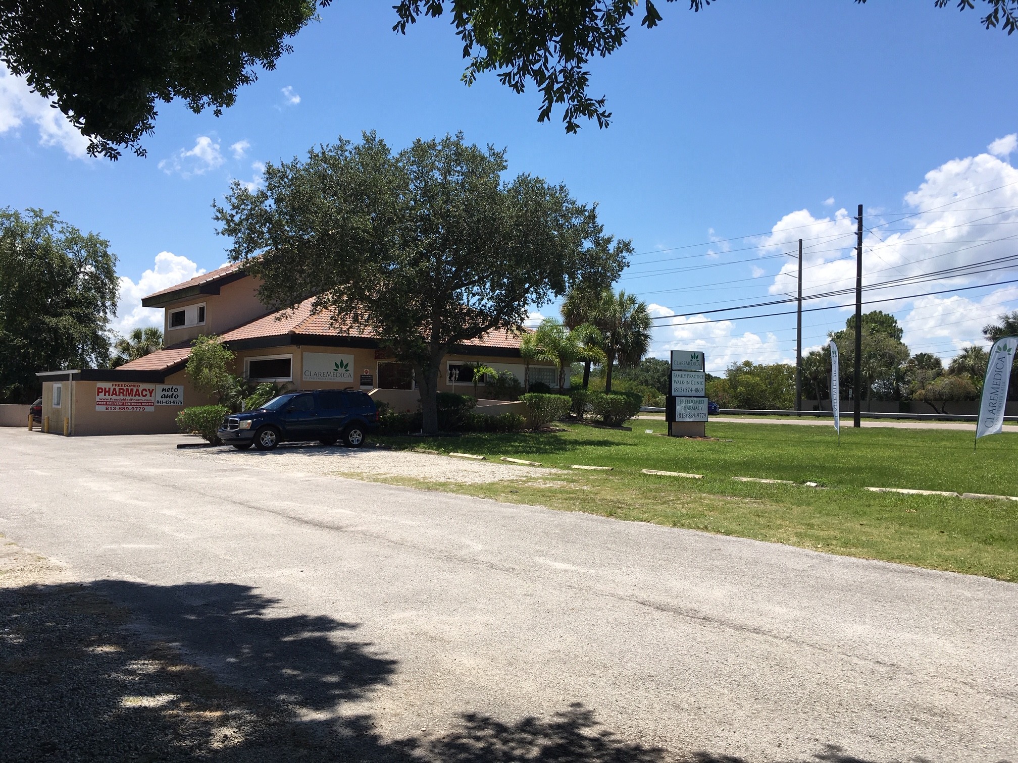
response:
M0 210L0 402L26 403L37 371L105 366L117 306L109 241L56 213Z

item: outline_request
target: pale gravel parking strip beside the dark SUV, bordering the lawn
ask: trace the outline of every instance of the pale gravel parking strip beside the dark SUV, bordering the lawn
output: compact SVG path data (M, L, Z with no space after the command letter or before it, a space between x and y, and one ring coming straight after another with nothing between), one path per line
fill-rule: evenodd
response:
M452 456L433 456L381 448L340 448L283 445L275 451L237 451L209 448L184 451L192 458L230 464L238 468L273 469L287 474L338 474L366 477L408 477L429 482L506 482L547 478L561 469L546 469Z

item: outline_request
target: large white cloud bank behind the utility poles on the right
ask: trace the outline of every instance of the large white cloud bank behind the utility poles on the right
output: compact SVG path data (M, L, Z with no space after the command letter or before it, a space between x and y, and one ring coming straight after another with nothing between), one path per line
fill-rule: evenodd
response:
M912 352L934 352L947 360L967 344L985 345L982 327L1018 308L1018 284L1004 283L1018 279L1018 261L1008 259L1018 252L1018 169L1002 160L1016 150L1018 133L999 138L989 153L954 159L926 173L918 187L905 194L906 209L901 213L866 212L863 309L895 314ZM824 217L808 210L789 213L758 239L758 252L794 253L799 238L803 239L803 296L813 297L804 307L842 307L812 312L805 319L809 344L828 328L844 326L849 305L854 304L854 216L845 209ZM775 299L794 294L797 288L796 257L782 259L768 289ZM759 269L750 269L757 276ZM963 270L959 275L952 269ZM873 288L909 278L922 280ZM980 286L986 288L951 293ZM926 294L937 291L946 293ZM779 310L794 310L794 304L762 311ZM660 305L653 305L652 311L674 315ZM653 354L700 349L711 370L745 358L757 363L794 362L794 317L698 322L716 315L657 321L668 326L656 328ZM792 329L787 328L789 320ZM743 331L746 326L754 331Z

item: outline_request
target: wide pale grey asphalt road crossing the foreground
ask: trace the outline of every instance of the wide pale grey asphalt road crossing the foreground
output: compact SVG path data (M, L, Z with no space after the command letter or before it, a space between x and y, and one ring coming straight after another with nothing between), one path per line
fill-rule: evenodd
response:
M0 429L0 533L301 718L391 740L589 712L698 761L1018 761L1016 585L177 442Z

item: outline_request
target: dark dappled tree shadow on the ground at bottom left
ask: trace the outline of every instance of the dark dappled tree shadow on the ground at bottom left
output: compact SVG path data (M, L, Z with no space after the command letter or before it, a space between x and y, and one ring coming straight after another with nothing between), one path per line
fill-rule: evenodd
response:
M752 763L623 740L578 703L385 739L350 704L390 684L398 662L356 632L230 583L0 588L0 759ZM835 747L807 760L878 763Z

